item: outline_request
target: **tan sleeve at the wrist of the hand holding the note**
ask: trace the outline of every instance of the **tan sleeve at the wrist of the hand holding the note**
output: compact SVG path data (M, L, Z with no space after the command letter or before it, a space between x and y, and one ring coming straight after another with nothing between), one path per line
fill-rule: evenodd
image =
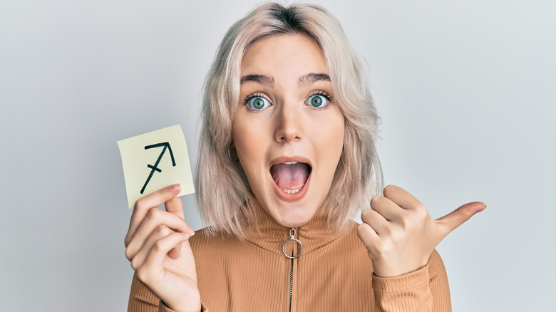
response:
M129 294L128 312L173 312L165 304L160 301L160 298L150 291L147 285L143 284L133 274L133 281L131 281L131 291ZM208 308L201 303L201 312L209 312Z

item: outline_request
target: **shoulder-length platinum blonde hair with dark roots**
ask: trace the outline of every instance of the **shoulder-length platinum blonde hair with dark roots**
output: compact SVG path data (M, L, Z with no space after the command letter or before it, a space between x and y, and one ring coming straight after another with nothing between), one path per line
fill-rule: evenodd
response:
M232 160L229 152L244 53L261 38L298 33L313 38L321 47L334 99L345 120L344 148L324 200L329 229L348 229L349 219L368 207L371 197L382 189L375 146L379 116L366 73L341 24L314 4L262 4L230 27L205 80L195 187L203 222L210 224L213 234L227 232L242 237L256 204L240 162ZM247 214L240 213L242 210Z

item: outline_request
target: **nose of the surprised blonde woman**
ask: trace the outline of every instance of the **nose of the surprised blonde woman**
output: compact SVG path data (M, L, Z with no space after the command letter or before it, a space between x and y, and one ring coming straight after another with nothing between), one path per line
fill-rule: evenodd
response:
M299 141L303 132L302 112L298 111L297 105L284 103L280 105L276 115L276 130L274 140L279 143Z

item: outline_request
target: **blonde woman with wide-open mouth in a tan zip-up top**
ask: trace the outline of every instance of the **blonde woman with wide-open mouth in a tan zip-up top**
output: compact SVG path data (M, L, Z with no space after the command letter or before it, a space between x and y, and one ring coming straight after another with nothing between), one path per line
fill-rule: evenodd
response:
M433 220L399 187L373 197L378 116L328 11L264 4L234 24L203 117L196 187L212 225L192 236L179 185L135 203L130 311L451 310L434 248L485 205Z

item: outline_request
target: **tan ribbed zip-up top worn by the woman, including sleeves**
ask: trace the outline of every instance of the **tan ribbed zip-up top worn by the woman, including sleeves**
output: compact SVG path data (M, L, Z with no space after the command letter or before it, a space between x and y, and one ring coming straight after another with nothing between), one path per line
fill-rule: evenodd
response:
M203 311L451 311L444 264L433 251L422 269L402 276L373 274L371 259L356 234L331 234L324 217L295 229L303 244L296 259L282 252L291 229L282 227L262 207L256 211L259 231L246 239L225 234L190 238ZM300 246L289 241L288 255ZM128 311L171 311L133 276Z

